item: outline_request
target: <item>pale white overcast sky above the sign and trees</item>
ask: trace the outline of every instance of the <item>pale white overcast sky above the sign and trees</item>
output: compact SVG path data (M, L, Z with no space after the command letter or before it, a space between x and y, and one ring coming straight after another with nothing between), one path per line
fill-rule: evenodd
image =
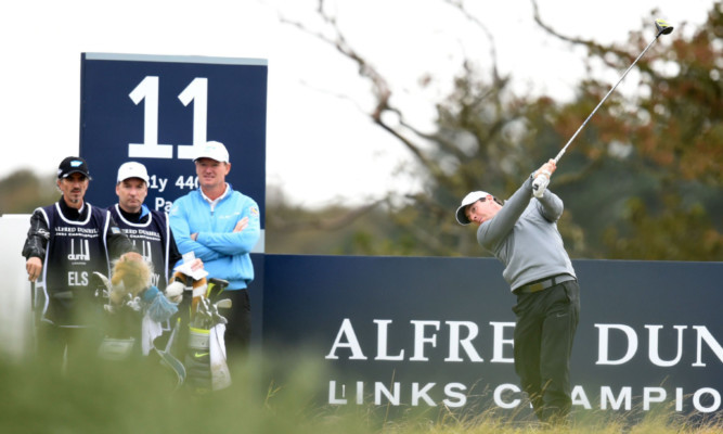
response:
M387 75L419 127L430 125L434 101L443 97L463 55L489 60L489 40L441 0L337 0L339 25ZM584 52L546 36L532 21L528 0L472 1L468 9L491 31L502 73L516 89L570 98L583 74ZM603 43L624 42L650 10L687 34L705 22L712 0L539 0L545 22L559 33ZM77 155L80 53L132 53L256 58L268 60L267 181L295 203L358 203L388 190L415 188L395 173L410 158L401 144L373 126L369 86L337 52L282 24L314 27L315 0L4 1L3 154L0 177L18 168L53 173ZM650 40L655 26L649 23ZM661 44L669 41L660 40ZM434 85L417 80L430 73ZM621 72L620 72L621 73ZM617 74L617 73L616 73ZM610 85L619 74L610 75ZM621 89L634 91L634 89ZM339 98L344 94L348 98ZM552 156L552 155L551 155ZM91 167L92 171L92 167Z

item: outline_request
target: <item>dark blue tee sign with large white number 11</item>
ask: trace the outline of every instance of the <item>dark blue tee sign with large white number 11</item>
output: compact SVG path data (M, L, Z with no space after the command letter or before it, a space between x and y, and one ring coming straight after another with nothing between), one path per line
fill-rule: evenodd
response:
M117 203L118 167L135 161L151 178L145 204L168 212L198 186L196 146L215 140L229 150L227 181L263 214L267 77L267 61L259 59L83 53L80 156L92 178L88 202Z

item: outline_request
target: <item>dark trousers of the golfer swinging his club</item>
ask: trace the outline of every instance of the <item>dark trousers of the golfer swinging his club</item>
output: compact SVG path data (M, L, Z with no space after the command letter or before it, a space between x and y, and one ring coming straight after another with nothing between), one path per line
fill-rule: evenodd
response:
M518 294L513 307L515 371L534 412L543 422L558 422L570 412L570 354L580 317L580 286L563 282Z

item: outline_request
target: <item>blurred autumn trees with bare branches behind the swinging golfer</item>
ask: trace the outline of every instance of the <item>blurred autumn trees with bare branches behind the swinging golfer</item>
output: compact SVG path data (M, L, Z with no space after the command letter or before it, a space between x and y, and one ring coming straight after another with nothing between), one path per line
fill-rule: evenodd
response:
M395 87L388 77L374 66L370 54L360 52L347 39L338 25L337 17L330 11L324 0L319 0L317 3L317 13L322 23L321 29L281 16L282 22L317 37L357 65L360 77L371 86L373 97L372 107L363 111L363 115L397 139L410 152L417 166L415 174L424 180L424 190L405 197L406 202L400 204L399 201L387 197L386 201L362 207L360 212L349 213L349 216L354 218L361 216L374 218L382 212L377 205L384 203L386 205L384 209L387 212L384 218L391 220L396 229L377 237L404 245L400 252L392 250L366 253L479 255L480 250L474 243L469 231L460 228L454 221L453 209L460 197L468 191L479 190L480 186L485 186L487 191L496 192L501 197L512 193L530 170L557 153L560 144L571 136L609 89L607 84L588 77L578 85L577 100L571 103L559 104L546 97L532 99L515 94L509 89L511 77L502 76L499 72L493 35L467 10L462 0L441 1L442 4L457 11L461 17L485 35L491 48L485 68L480 68L479 62L474 62L469 58L464 59L457 75L453 78L452 92L442 101L436 102L437 119L432 132L425 132L406 120L405 111L395 104ZM532 5L535 23L551 37L588 49L589 58L583 61L589 62L589 68L592 68L590 62L595 60L610 68L622 71L621 65L630 64L640 52L641 46L645 43L645 38L640 33L632 34L631 42L624 47L602 46L592 40L561 35L543 21L534 0ZM713 7L711 28L720 28L720 24L716 24L721 21L720 9ZM718 50L720 56L720 48L715 48L716 43L720 44L720 35L714 36L713 31L711 36L706 31L701 30L702 36L696 41L699 42L697 50L702 50L699 52L705 53L712 51L713 59ZM698 74L699 67L711 67L694 64L695 60L689 60L685 54L688 46L682 41L676 43L676 52L667 58L669 62L679 62L686 74L693 75ZM642 73L641 86L653 89L648 100L642 101L638 98L638 101L635 101L640 111L649 114L648 124L641 120L637 114L629 114L627 107L631 102L622 95L615 95L596 114L583 136L578 138L574 149L568 152L564 169L556 174L556 191L577 199L569 203L564 225L560 225L563 237L571 246L572 256L606 257L606 248L609 248L607 252L619 255L619 246L612 245L615 243L610 240L625 233L628 218L637 216L640 220L641 216L644 216L645 225L655 226L655 217L648 213L649 206L655 208L673 203L681 216L680 221L695 221L696 225L706 221L699 216L699 208L694 210L698 214L688 218L686 213L690 210L686 208L685 203L663 200L659 191L656 191L660 188L660 182L664 191L675 190L679 194L687 191L686 189L698 189L697 184L690 183L689 178L685 179L695 169L698 170L696 174L703 177L702 179L711 179L706 182L712 186L714 191L720 192L720 165L718 171L711 170L716 161L720 163L720 158L713 158L711 164L710 158L707 158L709 154L703 153L699 156L681 146L682 143L694 142L697 149L708 150L713 149L709 143L720 143L720 137L715 139L715 128L711 127L720 125L716 124L720 104L715 102L714 97L711 97L715 94L714 90L711 90L711 93L708 89L705 91L701 89L693 98L689 92L676 94L675 98L670 97L674 93L672 89L677 87L697 91L701 88L701 81L706 84L710 81L711 89L715 89L714 73L710 73L712 80L700 78L688 80L683 77L671 79L656 72L655 60L655 55L649 55L637 65ZM718 91L720 94L720 86ZM674 100L677 105L686 103L690 113L700 116L682 114L680 107L673 104ZM708 111L709 113L702 113L700 110L695 110L698 104L712 108ZM663 107L664 115L659 116L656 111L661 111ZM686 124L681 124L673 114L687 119ZM680 125L683 133L675 137L679 142L669 138L667 124ZM697 130L702 130L708 141L697 140L695 137ZM616 155L610 151L610 146L615 143L622 143L622 146L628 146L634 152L625 156ZM651 146L649 143L659 145ZM681 157L681 162L690 164L675 167L673 171L661 170L666 164L670 167L666 162L670 162L671 156L674 158L675 155ZM706 190L705 194L710 194L710 191ZM628 201L631 197L641 200L634 202L634 214L625 215L624 209L629 206ZM713 206L721 206L720 200L709 202ZM338 227L344 221L350 220L341 219L334 224L318 221L314 225L319 228L328 228ZM660 225L663 222L669 225L669 219L661 220ZM635 225L637 230L645 228L640 221ZM287 226L287 228L293 227L295 226ZM718 233L714 232L714 237L707 237L718 240L715 238L719 237ZM651 243L653 239L654 234L645 238L647 243ZM680 242L686 243L685 240ZM700 252L702 255L706 252L714 252L715 248L720 248L720 243L715 241L713 247ZM645 250L640 254L643 251ZM649 254L648 251L645 253ZM686 252L686 255L696 252L695 247L679 251ZM663 258L668 258L664 255L670 251L661 250L661 252Z

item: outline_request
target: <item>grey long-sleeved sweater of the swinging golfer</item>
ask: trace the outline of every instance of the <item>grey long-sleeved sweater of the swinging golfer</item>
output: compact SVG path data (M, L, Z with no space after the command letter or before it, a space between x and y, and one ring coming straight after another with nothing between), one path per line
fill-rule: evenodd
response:
M532 199L530 177L493 218L479 226L477 241L505 265L502 276L512 291L556 275L576 276L557 231L561 215L563 201L550 190Z

